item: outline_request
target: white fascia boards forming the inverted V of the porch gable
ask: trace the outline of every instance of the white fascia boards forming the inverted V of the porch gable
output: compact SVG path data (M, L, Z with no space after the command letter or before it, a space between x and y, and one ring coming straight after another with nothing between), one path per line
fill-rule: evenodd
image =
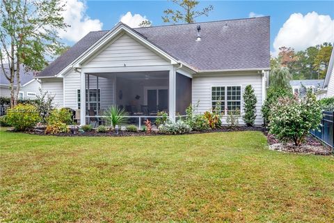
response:
M88 48L86 50L86 52L84 52L84 54L82 54L82 56L79 57L77 60L72 62L71 65L74 68L81 68L82 63L87 61L90 56L97 53L101 49L101 47L103 47L106 43L108 43L112 38L116 37L121 31L125 31L127 34L129 34L133 38L136 38L136 40L139 40L141 43L144 43L145 45L150 47L150 49L153 49L155 52L157 52L158 54L160 54L164 58L170 60L170 64L177 64L178 63L178 61L176 59L174 59L172 56L170 56L169 54L166 54L166 52L159 49L158 47L156 47L155 45L150 43L148 40L145 40L145 38L138 35L138 33L133 31L132 29L129 29L129 28L127 28L127 26L124 26L123 24L121 24L116 29L114 29L111 33L110 32L107 33L105 35L106 37L103 40L100 40L98 43L95 43L95 45Z

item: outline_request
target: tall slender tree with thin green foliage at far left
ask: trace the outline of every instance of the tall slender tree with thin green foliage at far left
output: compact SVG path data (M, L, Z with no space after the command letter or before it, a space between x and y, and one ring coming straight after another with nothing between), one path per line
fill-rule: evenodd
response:
M10 83L11 107L16 105L20 90L19 65L42 70L47 65L47 56L54 55L62 46L58 30L67 27L61 15L64 8L60 0L1 1L0 63Z

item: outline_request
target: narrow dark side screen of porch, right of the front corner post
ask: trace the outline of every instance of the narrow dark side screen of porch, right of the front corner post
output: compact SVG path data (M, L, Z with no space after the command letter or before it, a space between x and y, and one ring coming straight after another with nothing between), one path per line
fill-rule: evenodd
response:
M176 72L176 114L186 114L186 107L191 104L191 78Z

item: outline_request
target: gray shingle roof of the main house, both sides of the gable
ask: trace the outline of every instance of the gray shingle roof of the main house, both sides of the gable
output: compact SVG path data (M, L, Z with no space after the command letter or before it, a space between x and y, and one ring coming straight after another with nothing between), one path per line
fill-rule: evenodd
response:
M201 41L196 42L201 26ZM269 68L270 18L257 17L134 29L150 43L198 70ZM108 31L88 33L39 76L61 72Z

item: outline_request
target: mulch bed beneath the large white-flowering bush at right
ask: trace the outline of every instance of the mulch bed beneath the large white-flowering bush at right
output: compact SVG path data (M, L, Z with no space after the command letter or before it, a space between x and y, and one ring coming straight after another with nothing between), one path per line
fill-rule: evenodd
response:
M269 149L283 153L304 153L314 155L333 155L333 149L312 135L308 135L301 146L295 146L293 143L282 143L275 138L273 134L264 132L267 136Z

